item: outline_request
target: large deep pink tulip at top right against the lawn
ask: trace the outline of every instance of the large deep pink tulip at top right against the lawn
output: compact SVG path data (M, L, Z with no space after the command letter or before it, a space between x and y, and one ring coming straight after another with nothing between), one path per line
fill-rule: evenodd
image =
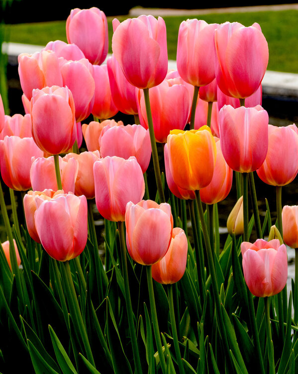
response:
M216 80L228 96L246 98L260 86L269 58L268 44L258 23L244 27L225 22L215 31Z

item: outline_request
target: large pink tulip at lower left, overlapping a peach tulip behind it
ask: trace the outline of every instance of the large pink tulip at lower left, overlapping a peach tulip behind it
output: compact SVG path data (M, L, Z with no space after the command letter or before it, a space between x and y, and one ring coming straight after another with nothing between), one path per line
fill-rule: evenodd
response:
M79 256L88 238L87 199L73 193L43 200L34 213L35 227L46 252L58 261Z

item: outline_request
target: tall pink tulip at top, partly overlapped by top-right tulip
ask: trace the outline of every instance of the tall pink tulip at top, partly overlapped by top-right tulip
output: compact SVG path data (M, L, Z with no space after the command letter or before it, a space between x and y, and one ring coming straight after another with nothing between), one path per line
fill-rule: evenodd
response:
M186 82L204 86L215 78L214 31L217 23L188 19L179 27L177 70Z

